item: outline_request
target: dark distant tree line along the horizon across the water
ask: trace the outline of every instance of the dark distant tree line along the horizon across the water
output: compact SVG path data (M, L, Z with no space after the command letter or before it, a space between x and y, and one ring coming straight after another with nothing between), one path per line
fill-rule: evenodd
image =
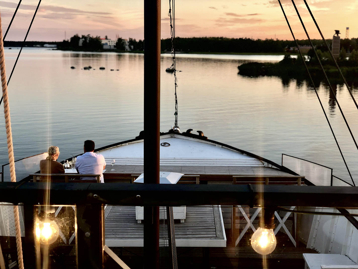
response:
M82 46L79 46L79 40L83 38ZM102 43L99 36L93 37L91 35L81 37L76 34L69 40L62 42L43 42L43 41L26 41L25 46L33 47L35 45L43 46L43 44L57 44L59 49L65 50L84 50L84 51L101 51ZM299 45L310 45L307 39L298 40ZM324 42L321 39L313 39L312 43L322 53L327 52ZM332 44L332 39L327 40L328 46ZM21 46L21 41L5 41L4 46ZM290 40L274 40L274 39L251 39L251 38L225 38L225 37L192 37L182 38L176 37L174 40L175 50L178 52L219 52L219 53L270 53L270 52L285 52L286 48L296 47L294 41ZM346 53L353 50L358 51L358 38L341 39L341 50L344 49ZM126 47L128 46L128 47ZM127 41L123 38L118 38L116 41L116 50L125 51L129 48L130 51L143 51L144 40L137 41L134 38L129 38ZM170 38L161 39L161 51L170 52L171 41Z

